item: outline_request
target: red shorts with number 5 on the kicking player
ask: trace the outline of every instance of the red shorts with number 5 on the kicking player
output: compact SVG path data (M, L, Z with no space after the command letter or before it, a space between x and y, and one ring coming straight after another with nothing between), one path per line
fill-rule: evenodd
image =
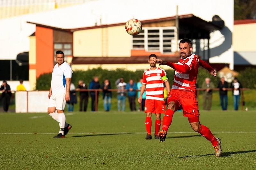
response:
M172 89L168 95L167 104L171 101L174 101L176 104L175 111L183 109L183 116L199 116L195 93L191 91Z

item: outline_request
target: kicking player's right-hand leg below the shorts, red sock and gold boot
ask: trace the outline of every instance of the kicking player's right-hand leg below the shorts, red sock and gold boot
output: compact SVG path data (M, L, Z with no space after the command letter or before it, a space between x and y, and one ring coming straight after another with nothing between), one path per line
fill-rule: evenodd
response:
M200 124L198 116L188 117L188 121L194 131L200 133L204 138L206 138L212 143L212 146L214 147L214 150L215 150L215 156L220 157L220 154L221 154L220 138L215 138L208 127L204 126L203 124Z

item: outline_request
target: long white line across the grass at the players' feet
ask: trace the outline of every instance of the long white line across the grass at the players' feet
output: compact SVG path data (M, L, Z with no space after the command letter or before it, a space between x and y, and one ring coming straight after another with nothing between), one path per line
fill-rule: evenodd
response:
M147 132L70 132L68 134L145 134ZM174 131L168 133L196 133L196 132L185 132L185 131ZM256 131L216 131L213 133L256 133ZM45 132L45 133L0 133L0 135L33 135L33 134L56 134L56 132Z

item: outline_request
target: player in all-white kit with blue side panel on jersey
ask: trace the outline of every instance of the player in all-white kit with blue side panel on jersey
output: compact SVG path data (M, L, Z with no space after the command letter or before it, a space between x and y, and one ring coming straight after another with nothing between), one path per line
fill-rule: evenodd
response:
M59 133L53 138L64 138L71 125L66 123L64 109L66 101L70 100L69 90L72 76L72 69L67 62L64 62L64 53L56 51L57 64L53 67L52 82L48 98L48 114L60 125Z

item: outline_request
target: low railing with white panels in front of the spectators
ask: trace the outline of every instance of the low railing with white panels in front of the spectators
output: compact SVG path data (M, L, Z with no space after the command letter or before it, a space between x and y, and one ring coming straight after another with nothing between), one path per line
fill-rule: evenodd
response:
M109 91L118 91L118 89L108 89ZM213 91L219 91L220 89L215 88ZM228 88L228 91L233 89ZM244 110L244 91L250 90L247 88L240 89L241 91L241 110ZM98 95L99 92L102 92L102 89L83 89L77 91L95 91L95 111L98 110ZM139 90L137 90L139 91ZM197 88L196 95L199 95L199 91L205 91L205 89ZM24 112L47 112L48 108L48 94L49 91L18 91L15 93L15 112L24 113ZM141 106L140 106L141 109Z

